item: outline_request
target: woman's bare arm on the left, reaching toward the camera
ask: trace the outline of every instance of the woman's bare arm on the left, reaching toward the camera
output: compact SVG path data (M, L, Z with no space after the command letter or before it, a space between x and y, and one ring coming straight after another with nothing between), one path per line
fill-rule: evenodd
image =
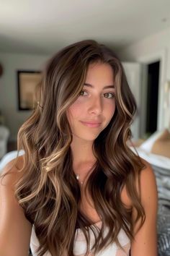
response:
M9 171L14 161L15 159L5 166L3 174ZM19 157L19 162L22 163L22 156ZM10 172L12 173L0 179L0 255L27 256L32 225L14 197L17 168L12 167Z

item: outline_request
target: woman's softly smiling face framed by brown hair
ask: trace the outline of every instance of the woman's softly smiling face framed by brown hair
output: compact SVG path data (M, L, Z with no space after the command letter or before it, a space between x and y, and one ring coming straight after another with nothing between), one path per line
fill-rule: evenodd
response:
M89 64L79 98L68 108L67 118L74 137L93 141L115 113L115 88L109 64Z

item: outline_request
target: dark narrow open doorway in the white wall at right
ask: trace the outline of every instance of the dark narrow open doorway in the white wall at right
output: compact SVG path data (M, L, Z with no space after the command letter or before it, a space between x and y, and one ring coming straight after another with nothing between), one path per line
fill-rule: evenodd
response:
M148 64L146 133L157 129L158 116L158 80L160 61Z

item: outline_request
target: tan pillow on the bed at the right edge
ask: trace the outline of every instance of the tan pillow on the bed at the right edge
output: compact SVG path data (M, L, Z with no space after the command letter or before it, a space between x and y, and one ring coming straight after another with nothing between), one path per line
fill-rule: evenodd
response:
M164 155L166 158L170 158L170 132L168 129L165 129L153 143L151 153Z

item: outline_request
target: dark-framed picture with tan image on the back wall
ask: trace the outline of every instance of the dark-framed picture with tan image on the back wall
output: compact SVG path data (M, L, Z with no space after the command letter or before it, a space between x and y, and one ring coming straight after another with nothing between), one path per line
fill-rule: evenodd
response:
M35 107L35 90L40 81L39 71L17 71L19 110L32 110Z

